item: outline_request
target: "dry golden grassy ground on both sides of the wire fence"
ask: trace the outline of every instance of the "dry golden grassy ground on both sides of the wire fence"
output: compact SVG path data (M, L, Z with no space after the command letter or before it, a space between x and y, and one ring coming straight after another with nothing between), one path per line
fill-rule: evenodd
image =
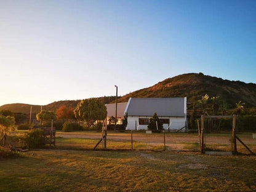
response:
M134 151L127 133L108 134L111 151L92 151L99 133L67 135L80 138L57 138L54 148L0 159L0 191L256 191L256 156L202 155L194 134L166 134L166 152L161 134L135 134ZM250 134L239 137L255 151ZM228 139L207 135L207 147L229 150Z

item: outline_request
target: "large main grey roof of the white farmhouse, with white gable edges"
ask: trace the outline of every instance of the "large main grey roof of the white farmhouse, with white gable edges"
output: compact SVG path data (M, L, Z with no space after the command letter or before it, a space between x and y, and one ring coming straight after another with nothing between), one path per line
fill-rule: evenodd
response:
M174 116L183 117L185 98L130 98L126 107L129 116Z

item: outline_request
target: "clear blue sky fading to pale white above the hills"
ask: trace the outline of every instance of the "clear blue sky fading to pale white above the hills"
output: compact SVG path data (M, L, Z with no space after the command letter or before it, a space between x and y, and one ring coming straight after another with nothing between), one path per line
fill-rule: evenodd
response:
M0 106L199 72L256 83L256 1L0 0Z

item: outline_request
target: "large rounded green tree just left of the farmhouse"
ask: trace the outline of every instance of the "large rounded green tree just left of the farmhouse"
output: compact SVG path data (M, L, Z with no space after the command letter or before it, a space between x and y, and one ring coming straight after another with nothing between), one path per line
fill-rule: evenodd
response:
M95 121L103 121L106 118L106 106L96 98L81 100L74 109L74 116L87 122L87 127L94 124Z

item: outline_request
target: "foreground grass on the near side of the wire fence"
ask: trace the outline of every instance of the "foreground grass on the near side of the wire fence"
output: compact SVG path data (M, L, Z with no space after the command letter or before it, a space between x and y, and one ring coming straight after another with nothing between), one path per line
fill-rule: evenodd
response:
M0 160L0 191L255 191L255 156L43 150Z

